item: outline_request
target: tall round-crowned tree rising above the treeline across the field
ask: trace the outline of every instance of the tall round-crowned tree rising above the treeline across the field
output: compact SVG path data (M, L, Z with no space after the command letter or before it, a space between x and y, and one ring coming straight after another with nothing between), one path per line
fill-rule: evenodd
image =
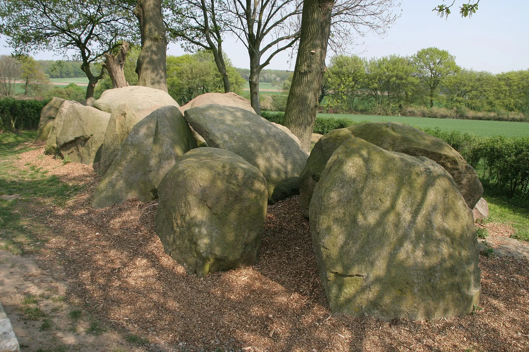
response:
M413 61L417 66L417 74L430 88L430 107L433 107L433 98L439 83L459 71L455 56L446 50L428 47L419 50L413 56Z

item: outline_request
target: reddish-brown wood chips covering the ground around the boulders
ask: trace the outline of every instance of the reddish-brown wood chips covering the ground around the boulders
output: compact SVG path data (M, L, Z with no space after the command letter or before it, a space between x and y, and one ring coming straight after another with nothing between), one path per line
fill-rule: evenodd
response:
M55 281L60 275L70 311L79 309L101 324L102 330L87 332L89 326L76 336L104 337L110 341L104 346L116 352L529 350L527 260L480 256L480 306L467 317L386 323L332 315L299 197L268 207L258 264L198 279L163 252L154 233L157 201L94 210L94 167L62 165L42 151L19 154L14 166L42 167L81 191L61 205L26 198L14 207L27 226L39 229L42 241L32 242L25 258ZM24 294L14 294L20 302L12 305L22 307ZM41 345L28 339L22 351L52 351L58 343L63 350L88 350L63 338L65 326L52 326ZM106 348L99 350L111 350Z

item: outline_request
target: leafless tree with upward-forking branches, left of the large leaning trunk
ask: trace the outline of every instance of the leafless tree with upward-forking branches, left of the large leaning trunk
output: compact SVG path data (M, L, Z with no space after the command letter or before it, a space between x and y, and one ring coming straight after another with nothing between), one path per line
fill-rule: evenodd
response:
M259 75L277 53L298 41L302 4L301 0L226 0L217 5L223 25L248 49L250 102L259 115Z

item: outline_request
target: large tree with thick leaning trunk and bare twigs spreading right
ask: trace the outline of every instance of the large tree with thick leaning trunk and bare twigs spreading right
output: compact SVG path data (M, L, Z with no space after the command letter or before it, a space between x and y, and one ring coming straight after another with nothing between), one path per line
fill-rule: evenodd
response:
M327 44L338 50L354 44L351 33L384 34L398 18L392 11L397 6L397 0L305 0L296 67L283 119L305 151L311 147Z

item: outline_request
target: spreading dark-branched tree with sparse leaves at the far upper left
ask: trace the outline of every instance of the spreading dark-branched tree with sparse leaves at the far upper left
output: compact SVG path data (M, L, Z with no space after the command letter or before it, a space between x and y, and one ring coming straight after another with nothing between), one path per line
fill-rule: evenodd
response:
M89 80L92 97L103 71L94 74L94 62L122 40L136 41L136 25L126 2L114 0L0 0L0 33L16 54L74 50ZM165 55L165 54L164 54Z

